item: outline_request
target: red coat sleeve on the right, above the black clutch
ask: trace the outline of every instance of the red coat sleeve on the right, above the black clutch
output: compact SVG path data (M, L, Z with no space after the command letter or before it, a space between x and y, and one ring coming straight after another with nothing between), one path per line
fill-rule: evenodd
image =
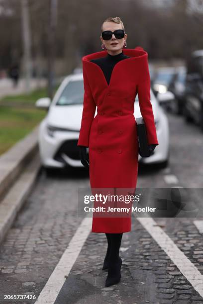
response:
M140 66L141 71L139 80L137 82L137 93L139 99L140 112L146 126L148 144L159 145L156 133L156 126L154 122L152 104L150 101L150 74L147 57L145 57L142 65Z

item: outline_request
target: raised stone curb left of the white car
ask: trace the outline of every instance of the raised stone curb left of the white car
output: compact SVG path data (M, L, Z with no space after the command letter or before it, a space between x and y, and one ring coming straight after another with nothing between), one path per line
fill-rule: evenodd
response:
M39 125L0 156L0 243L29 196L41 168L38 128Z

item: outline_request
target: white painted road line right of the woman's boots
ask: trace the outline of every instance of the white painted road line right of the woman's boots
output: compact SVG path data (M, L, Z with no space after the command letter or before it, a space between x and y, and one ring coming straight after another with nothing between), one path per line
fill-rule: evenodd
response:
M203 275L198 268L185 256L173 240L152 218L136 218L151 234L158 245L166 252L174 264L179 268L195 290L203 297Z

